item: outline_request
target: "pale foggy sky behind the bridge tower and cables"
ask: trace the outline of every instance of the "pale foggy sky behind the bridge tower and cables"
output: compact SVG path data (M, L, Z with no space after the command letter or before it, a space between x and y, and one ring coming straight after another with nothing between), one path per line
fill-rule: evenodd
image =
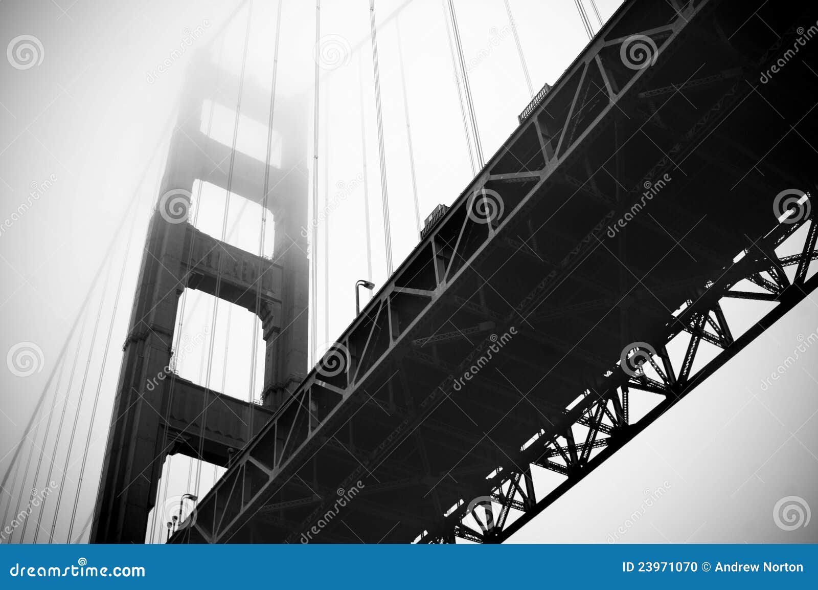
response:
M596 4L605 20L619 2L598 0ZM52 480L61 481L70 425L76 412L72 402L76 402L88 362L88 383L65 473L65 496L56 521L53 513L56 495L49 497L38 541L48 538L52 521L55 542L66 540L85 436L91 424L91 402L98 386L100 402L71 540L79 536L84 541L88 537L88 531L82 531L97 492L119 376L121 345L127 334L146 224L157 198L156 187L169 137L168 123L173 120L186 66L196 51L209 52L216 61L221 43L217 34L222 27L227 27L222 67L239 73L246 4L235 19L228 18L238 6L213 0L0 2L0 46L7 47L11 39L22 34L34 35L43 46L42 63L28 70L17 70L7 60L0 60L0 220L11 218L21 203L28 202L33 186L53 179L52 186L0 235L0 353L5 357L12 346L27 341L42 349L44 359L40 371L26 377L15 376L0 365L0 471L7 469L34 404L65 339L70 336L70 326L93 274L109 254L107 245L115 237L119 218L131 200L137 200L138 208L131 247L127 252L124 250L126 226L111 250L114 263L104 297L100 288L94 292L77 376L72 389L66 392L75 342L70 346L46 444L42 443L44 424L40 426L30 461L35 464L43 448L39 480L33 480L34 465L28 471L28 479L24 481L22 477L31 448L27 441L16 485L0 490L0 516L3 511L8 515L0 527L11 520L20 493L24 494L21 506L25 507L30 490L43 488L50 462L55 465ZM511 0L510 6L536 92L543 83L554 83L560 77L586 45L587 34L573 0ZM470 70L470 84L483 153L488 159L515 130L516 117L528 104L530 94L515 40L507 28L509 22L502 0L457 0L456 9L465 59L474 66ZM590 2L586 2L586 10L596 31L599 23ZM253 87L269 92L275 14L276 2L254 2L245 92L251 92L248 88ZM362 93L372 278L380 287L387 275L369 14L366 0L322 2L321 35L338 35L349 47L359 48L349 56L348 63L336 70L322 71L319 202L326 196L332 200L340 187L348 187L363 173ZM404 58L421 220L438 203L450 204L472 177L443 14L443 3L439 0L376 2L378 23L389 18L379 30L378 47L396 268L418 239L398 35ZM183 39L197 28L204 29L205 34L190 46L184 45ZM216 41L211 43L213 39ZM309 121L306 140L309 154L312 154L314 41L314 3L285 0L276 95L303 101L303 115ZM158 73L160 64L180 47L184 47L184 55ZM478 57L487 50L488 56ZM227 145L231 142L233 116L231 110L223 108L213 113L211 135ZM259 133L257 125L243 119L237 149L263 159L266 133L263 130ZM154 163L140 184L152 156ZM312 178L311 158L303 163L300 172ZM310 182L310 192L304 198L312 194ZM201 200L195 204L200 214L197 227L202 231L218 236L224 198L219 189L209 185L202 188ZM235 229L227 241L255 251L259 208L253 204L242 207L239 198L233 203L228 227ZM367 275L363 219L363 191L358 184L327 222L328 265L324 258L325 227L319 227L319 242L317 248L312 248L318 253L319 344L334 340L354 317L353 285ZM272 224L268 223L268 227ZM270 249L271 238L267 239ZM272 250L265 254L272 254ZM122 295L114 310L116 281L123 266ZM325 268L329 269L328 281ZM205 327L210 328L211 305L209 297L190 292L182 336L195 339ZM89 359L90 329L100 306L101 327ZM250 392L258 398L259 383L248 381L254 318L242 309L231 308L228 304L219 306L211 386L241 399L248 399ZM112 313L111 345L99 382ZM225 329L228 314L229 341ZM777 527L772 517L775 502L784 496L796 495L811 507L818 507L818 347L808 349L773 387L767 390L761 387L762 379L793 354L800 343L798 335L808 336L816 330L818 305L813 297L802 302L707 384L511 540L526 543L818 540L818 523L788 532ZM179 365L182 376L202 382L202 367L208 354L205 339L205 344L182 359ZM66 426L52 456L56 421L65 405L66 393L70 399L65 406ZM51 395L43 418L51 410ZM173 457L170 465L168 496L196 491L202 497L221 472L204 466L197 483L196 468L187 457ZM658 488L664 490L661 498L646 507L645 499ZM37 516L36 511L34 514ZM625 533L617 532L620 527ZM30 542L33 536L34 523L29 522L25 542ZM12 541L19 542L19 537L17 530ZM151 538L164 538L161 521L156 523Z

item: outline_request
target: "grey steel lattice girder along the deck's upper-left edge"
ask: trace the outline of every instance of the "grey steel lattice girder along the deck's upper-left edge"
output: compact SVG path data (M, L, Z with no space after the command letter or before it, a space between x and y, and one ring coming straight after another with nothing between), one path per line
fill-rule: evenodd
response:
M632 8L635 3L638 2L629 2L627 7ZM707 4L708 2L699 2L696 6L690 5L679 11L676 18L666 25L636 29L631 34L652 35L660 43L658 51L668 52L673 39ZM627 14L624 8L609 21L606 30L612 30L622 16ZM200 502L199 511L205 518L197 520L195 531L187 531L189 538L195 535L210 543L227 541L231 537L231 531L243 525L263 505L263 498L272 493L276 480L286 480L291 476L300 453L308 454L308 448L319 442L317 433L326 429L338 417L344 402L362 394L362 383L382 369L379 367L380 363L390 355L395 355L404 341L414 340L416 336L413 333L422 325L424 311L446 296L447 287L468 275L474 262L487 254L492 239L503 227L524 215L533 196L546 185L555 169L573 157L577 146L595 133L594 124L617 109L618 98L640 78L649 78L649 69L639 69L629 70L629 79L620 80L619 83L609 79L610 71L606 71L600 60L600 53L607 47L620 46L624 40L625 38L608 39L604 35L598 36L587 47L587 51L574 61L551 92L543 93L542 101L531 109L529 118L533 119L538 112L547 110L556 97L563 97L565 100L563 95L569 92L570 106L563 118L555 121L548 129L542 129L537 120L534 120L533 126L522 124L492 160L489 160L434 230L420 242L393 277L367 304L361 315L344 331L335 346L312 369L291 398L276 412L276 416L242 449L234 465ZM589 72L604 80L604 88L600 88L602 94L599 96L597 92L591 94L587 84L582 83ZM592 113L589 101L596 108ZM586 117L582 122L581 116ZM514 153L515 145L518 145L524 134L533 133L533 128L537 129L540 149L536 154L524 156L524 171L497 173L509 159L519 169L520 159ZM479 218L475 219L473 210L475 202L484 200L488 191L497 194L495 189L487 189L489 183L494 187L505 185L509 189L516 187L517 190L504 191L504 206L510 210L506 210L504 215L492 223L481 223ZM522 191L519 187L523 187ZM613 213L608 217L598 224L598 229L613 218ZM555 269L543 279L542 285L552 285L559 281L559 275L569 272L582 259L583 250L589 245L592 245L590 236L582 240L560 263L559 270ZM396 305L397 300L401 300L400 306ZM462 367L469 367L472 358L482 354L490 344L488 338L483 340L474 354L461 363ZM335 372L337 366L333 363L336 361L342 364L342 371L339 373ZM435 403L443 398L446 390L452 387L452 381L453 376L431 392L420 403L417 415L403 421L393 435L375 449L375 453L372 453L374 457L366 457L366 460L375 460L375 457L389 453L395 444L411 433L434 408ZM245 472L245 469L252 473ZM339 487L346 489L363 472L365 470L356 470ZM240 485L236 486L237 482ZM222 516L217 519L215 514L218 511L222 511ZM314 516L320 515L322 511L326 511L326 502L316 507ZM312 517L308 520L312 520ZM213 526L206 526L205 523L212 523ZM299 535L294 533L290 536L298 538Z

